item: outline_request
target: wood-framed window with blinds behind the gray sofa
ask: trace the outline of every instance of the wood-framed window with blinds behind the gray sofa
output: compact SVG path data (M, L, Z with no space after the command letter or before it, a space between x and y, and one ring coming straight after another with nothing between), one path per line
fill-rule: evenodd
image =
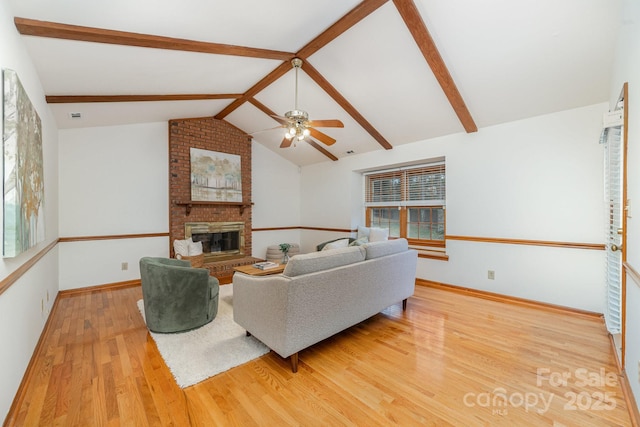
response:
M445 198L444 162L365 175L367 226L411 244L444 246Z

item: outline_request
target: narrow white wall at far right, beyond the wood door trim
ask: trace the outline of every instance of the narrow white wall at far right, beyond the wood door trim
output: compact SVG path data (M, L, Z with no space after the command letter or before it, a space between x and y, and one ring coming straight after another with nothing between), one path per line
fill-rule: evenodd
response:
M625 0L611 83L611 105L629 83L627 262L640 271L640 3ZM627 277L625 370L636 402L640 401L640 287Z

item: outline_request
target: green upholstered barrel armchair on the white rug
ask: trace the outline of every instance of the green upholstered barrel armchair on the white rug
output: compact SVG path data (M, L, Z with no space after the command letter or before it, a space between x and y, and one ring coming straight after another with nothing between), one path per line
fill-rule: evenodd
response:
M173 258L140 259L147 327L151 332L182 332L211 322L218 314L218 279L206 268Z

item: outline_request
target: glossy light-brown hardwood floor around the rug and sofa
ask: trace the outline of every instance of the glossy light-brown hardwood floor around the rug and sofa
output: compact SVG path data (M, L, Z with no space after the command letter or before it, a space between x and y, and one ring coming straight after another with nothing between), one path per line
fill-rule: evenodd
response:
M417 286L300 352L180 389L139 287L58 299L16 426L627 426L603 322Z

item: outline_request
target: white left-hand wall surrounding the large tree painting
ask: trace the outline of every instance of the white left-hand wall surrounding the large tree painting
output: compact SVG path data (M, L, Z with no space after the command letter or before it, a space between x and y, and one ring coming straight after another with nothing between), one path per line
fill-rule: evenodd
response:
M58 237L57 128L6 3L0 2L0 68L17 72L42 122L45 241L15 258L0 259L3 280ZM9 412L57 292L58 250L54 248L0 295L0 420Z

